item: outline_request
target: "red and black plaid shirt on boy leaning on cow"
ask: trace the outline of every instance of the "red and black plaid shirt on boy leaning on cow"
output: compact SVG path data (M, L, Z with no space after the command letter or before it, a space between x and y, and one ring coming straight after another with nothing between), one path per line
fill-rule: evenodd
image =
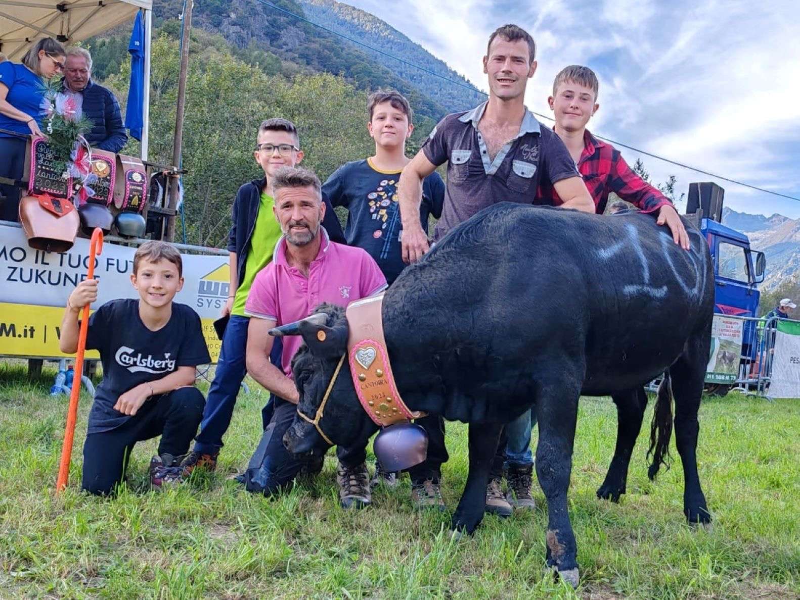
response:
M578 171L594 200L595 213L602 214L606 210L610 192L630 202L642 213L654 213L663 205L672 205L664 194L630 169L618 149L598 140L588 129L583 133L583 152L578 160ZM558 206L563 201L550 181L542 181L534 204Z

